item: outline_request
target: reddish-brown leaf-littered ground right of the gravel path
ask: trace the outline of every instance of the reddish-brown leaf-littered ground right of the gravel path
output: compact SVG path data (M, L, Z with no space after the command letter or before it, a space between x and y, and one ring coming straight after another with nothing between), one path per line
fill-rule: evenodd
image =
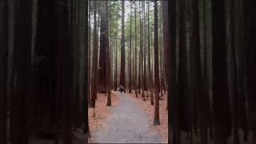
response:
M129 94L131 98L137 99L136 102L138 102L138 105L141 106L142 110L146 112L150 122L150 129L155 134L160 134L162 143L168 143L168 110L166 110L166 106L167 106L166 94L163 96L162 100L159 101L159 117L160 117L159 126L153 125L154 105L150 104L150 97L146 97L146 102L143 102L142 94L138 94L138 98L136 98L134 91L131 94Z

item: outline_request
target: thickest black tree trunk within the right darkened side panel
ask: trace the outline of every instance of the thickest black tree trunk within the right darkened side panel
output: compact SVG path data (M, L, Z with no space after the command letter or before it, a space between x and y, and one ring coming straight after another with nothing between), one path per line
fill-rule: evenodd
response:
M225 2L212 0L214 142L225 144L230 136L230 102L226 77Z

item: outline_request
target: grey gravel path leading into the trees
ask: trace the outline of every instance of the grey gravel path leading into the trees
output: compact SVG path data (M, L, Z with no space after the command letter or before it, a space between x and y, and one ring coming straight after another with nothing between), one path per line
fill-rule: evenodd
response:
M161 143L157 134L150 132L150 122L135 99L118 94L120 102L106 119L106 128L95 131L97 143Z

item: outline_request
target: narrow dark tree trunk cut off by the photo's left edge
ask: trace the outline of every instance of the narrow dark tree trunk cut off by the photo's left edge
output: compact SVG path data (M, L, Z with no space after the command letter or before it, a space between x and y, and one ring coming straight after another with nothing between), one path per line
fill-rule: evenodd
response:
M0 143L7 144L8 1L0 1Z

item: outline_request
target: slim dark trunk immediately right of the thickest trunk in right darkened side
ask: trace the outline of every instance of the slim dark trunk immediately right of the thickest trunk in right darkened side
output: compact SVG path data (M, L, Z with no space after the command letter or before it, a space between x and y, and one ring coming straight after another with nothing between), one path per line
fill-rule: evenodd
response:
M228 74L229 74L229 97L230 97L230 109L231 109L231 120L232 120L232 134L233 134L233 141L234 144L239 144L239 135L238 135L238 65L237 65L237 56L236 50L238 49L238 31L235 29L238 25L238 22L235 21L238 18L238 15L234 13L235 2L228 1L227 6L229 7L230 11L227 14L227 22L229 23L227 26L226 34L227 38L227 62L228 62ZM238 11L239 12L239 11ZM238 42L237 42L238 41Z

